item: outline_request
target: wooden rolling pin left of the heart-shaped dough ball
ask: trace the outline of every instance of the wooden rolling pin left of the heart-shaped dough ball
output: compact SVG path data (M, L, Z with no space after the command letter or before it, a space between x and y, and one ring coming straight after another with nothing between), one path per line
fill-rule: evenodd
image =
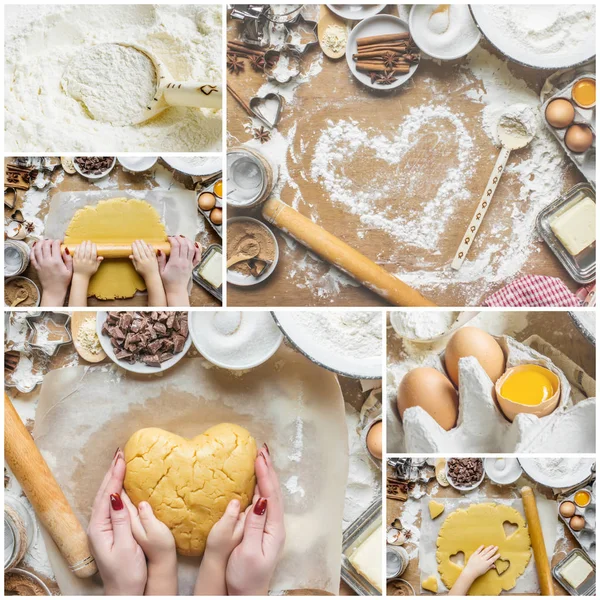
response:
M91 577L98 568L88 547L85 531L6 394L4 459L21 484L38 519L67 561L69 569L77 577Z

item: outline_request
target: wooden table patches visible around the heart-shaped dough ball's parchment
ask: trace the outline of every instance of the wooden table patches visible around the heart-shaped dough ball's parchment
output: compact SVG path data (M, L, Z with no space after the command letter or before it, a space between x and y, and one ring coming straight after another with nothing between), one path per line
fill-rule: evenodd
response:
M188 351L190 355L197 356L198 353L195 350L194 346L190 348ZM52 356L48 362L44 373L52 371L54 369L61 369L66 366L79 366L79 365L89 365L90 363L84 361L79 354L77 354L74 346L72 344L66 345L59 349L59 351ZM110 364L110 359L106 358L100 363L102 364ZM361 383L357 379L350 379L348 377L338 377L340 386L342 388L342 394L344 396L344 401L353 406L355 410L360 411L361 405L365 398L365 393L362 391ZM19 416L25 422L27 429L29 431L33 430L33 426L35 424L35 408L37 406L39 395L41 391L41 384L38 385L32 392L29 394L23 394L19 392L15 388L6 388L6 393L8 397L13 402ZM10 475L12 477L12 475ZM6 488L6 485L5 485ZM9 488L10 489L10 484ZM365 506L365 509L367 507ZM43 550L43 556L47 559L47 555L45 553L45 549ZM39 554L39 552L38 552ZM39 558L38 558L39 559ZM26 559L27 562L27 559ZM27 567L31 569L30 566ZM44 576L43 573L36 572L38 576L42 578L42 580L48 585L51 591L55 594L60 594L60 590L56 584L56 581L53 578L48 578ZM304 592L306 593L306 592ZM347 586L343 581L340 580L340 594L344 596L355 595L354 591ZM296 595L296 594L294 594Z

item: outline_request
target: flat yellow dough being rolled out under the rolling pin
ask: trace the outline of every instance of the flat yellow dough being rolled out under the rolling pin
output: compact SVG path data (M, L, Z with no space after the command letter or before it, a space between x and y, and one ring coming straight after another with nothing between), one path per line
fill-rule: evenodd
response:
M155 208L148 202L132 198L112 198L78 210L65 233L65 244L85 240L100 243L148 244L166 242L167 232ZM129 258L106 259L92 276L88 297L99 300L131 298L144 291L146 284Z

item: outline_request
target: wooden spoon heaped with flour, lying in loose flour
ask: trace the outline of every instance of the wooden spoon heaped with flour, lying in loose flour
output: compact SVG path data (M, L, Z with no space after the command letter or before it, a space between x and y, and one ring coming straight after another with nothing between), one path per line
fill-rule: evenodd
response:
M165 64L134 44L109 43L87 48L67 65L65 93L90 117L112 125L137 125L170 106L220 109L220 84L175 81Z

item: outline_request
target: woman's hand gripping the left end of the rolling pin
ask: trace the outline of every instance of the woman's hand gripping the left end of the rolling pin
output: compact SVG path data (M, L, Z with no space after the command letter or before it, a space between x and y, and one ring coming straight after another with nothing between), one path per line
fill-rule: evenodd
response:
M63 306L73 276L69 251L61 253L59 240L40 240L31 248L31 264L42 285L40 306Z

